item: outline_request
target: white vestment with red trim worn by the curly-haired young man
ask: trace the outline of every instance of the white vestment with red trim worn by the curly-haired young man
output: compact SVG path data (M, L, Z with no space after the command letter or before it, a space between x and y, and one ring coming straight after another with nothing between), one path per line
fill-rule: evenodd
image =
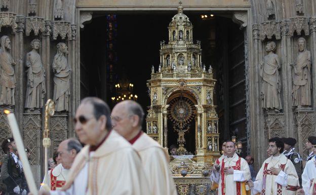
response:
M279 168L279 165L284 167L283 170L281 170L279 175L273 175L270 169L272 167ZM266 175L265 179L264 175ZM286 158L284 154L280 154L278 157L271 156L263 162L262 167L257 174L256 181L254 182L252 194L259 192L263 195L296 194L295 190L288 190L287 187L297 187L298 185L298 176L293 163Z

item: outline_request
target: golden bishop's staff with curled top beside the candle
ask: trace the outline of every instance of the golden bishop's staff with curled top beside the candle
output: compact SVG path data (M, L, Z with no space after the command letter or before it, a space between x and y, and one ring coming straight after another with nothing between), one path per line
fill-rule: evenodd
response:
M46 105L45 105L45 129L43 132L43 146L45 149L45 181L43 189L44 190L49 190L49 187L46 185L47 184L47 173L48 173L48 148L51 146L51 138L49 137L49 128L48 128L48 123L49 123L49 117L53 116L55 112L55 103L52 99L47 100Z

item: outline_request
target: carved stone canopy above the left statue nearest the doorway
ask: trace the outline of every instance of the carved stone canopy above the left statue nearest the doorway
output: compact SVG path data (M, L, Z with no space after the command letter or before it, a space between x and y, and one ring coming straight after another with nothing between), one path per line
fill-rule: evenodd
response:
M65 39L68 36L69 40L71 40L72 33L71 33L71 25L70 22L66 21L54 21L52 22L53 28L53 39L56 40L58 34L61 36L62 39Z

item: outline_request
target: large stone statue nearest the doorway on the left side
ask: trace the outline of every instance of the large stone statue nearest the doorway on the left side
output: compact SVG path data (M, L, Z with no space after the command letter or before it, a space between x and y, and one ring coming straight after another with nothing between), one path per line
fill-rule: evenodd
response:
M57 53L54 56L54 102L56 111L69 110L70 72L67 55L68 47L65 43L57 44Z

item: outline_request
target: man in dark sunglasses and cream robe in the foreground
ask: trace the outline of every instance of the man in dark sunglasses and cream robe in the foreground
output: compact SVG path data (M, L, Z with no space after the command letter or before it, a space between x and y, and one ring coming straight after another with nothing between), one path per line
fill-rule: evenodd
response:
M104 101L83 99L74 125L86 146L77 154L62 191L40 191L39 195L151 194L136 150L111 131L110 109Z

